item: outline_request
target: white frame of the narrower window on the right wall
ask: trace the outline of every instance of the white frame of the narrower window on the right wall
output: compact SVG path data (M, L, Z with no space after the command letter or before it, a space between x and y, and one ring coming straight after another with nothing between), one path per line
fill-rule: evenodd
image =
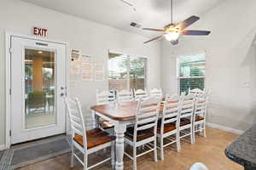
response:
M179 62L179 58L183 57L183 56L187 56L187 55L196 55L196 54L204 54L205 56L205 74L204 76L197 76L197 77L180 77L180 62ZM204 89L207 88L207 78L206 78L206 74L207 74L207 51L206 50L201 50L198 52L194 52L194 53L187 53L187 54L182 54L182 55L178 55L176 58L176 69L177 69L177 94L181 94L180 93L180 80L181 79L191 79L191 78L204 78Z

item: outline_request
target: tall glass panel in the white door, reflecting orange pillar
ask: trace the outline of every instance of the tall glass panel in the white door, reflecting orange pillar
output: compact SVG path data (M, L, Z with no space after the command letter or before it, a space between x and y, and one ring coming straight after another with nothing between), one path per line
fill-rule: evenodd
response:
M55 124L55 52L25 49L25 129Z

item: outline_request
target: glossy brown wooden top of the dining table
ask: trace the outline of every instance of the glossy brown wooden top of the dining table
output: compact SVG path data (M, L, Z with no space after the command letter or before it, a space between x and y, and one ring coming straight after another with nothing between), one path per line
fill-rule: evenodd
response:
M122 102L116 105L94 105L90 109L115 121L129 121L135 119L137 102ZM160 107L160 111L162 110L163 105Z

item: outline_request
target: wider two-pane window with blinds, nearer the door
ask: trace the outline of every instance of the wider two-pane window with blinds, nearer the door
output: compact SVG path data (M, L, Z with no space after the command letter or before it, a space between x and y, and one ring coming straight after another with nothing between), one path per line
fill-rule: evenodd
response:
M108 54L109 90L145 89L147 59L135 55Z

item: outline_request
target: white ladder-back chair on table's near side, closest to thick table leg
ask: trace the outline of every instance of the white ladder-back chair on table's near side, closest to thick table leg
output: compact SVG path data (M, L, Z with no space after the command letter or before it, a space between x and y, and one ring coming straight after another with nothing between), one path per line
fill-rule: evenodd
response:
M125 132L125 144L133 148L132 156L125 152L133 161L133 169L137 169L137 157L154 151L154 161L157 161L156 130L160 110L160 99L149 97L139 99L134 127L127 127ZM151 144L151 143L154 144ZM137 155L137 147L145 146L147 151Z

